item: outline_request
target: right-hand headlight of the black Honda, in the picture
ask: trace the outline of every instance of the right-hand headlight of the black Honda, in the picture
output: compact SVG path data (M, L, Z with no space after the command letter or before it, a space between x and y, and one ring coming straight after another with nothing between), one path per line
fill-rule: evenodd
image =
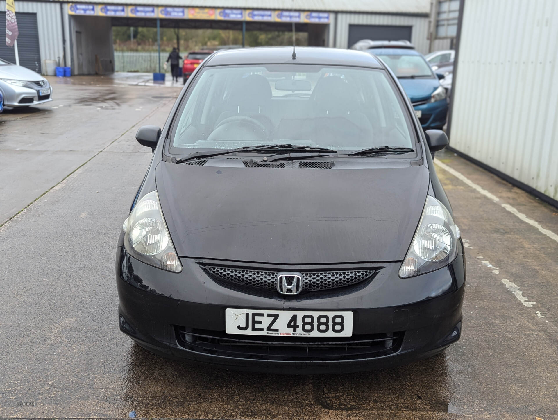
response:
M451 263L460 236L448 209L434 197L426 196L419 227L401 264L399 277L417 276Z

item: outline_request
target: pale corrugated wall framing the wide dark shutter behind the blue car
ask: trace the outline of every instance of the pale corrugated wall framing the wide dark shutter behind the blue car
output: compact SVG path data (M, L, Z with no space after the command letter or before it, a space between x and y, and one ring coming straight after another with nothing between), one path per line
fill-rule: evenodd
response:
M374 13L337 13L336 48L348 48L349 25L412 26L411 42L422 54L428 53L428 16L378 15ZM330 30L330 37L331 37ZM333 43L333 41L332 41ZM333 45L332 45L333 46Z

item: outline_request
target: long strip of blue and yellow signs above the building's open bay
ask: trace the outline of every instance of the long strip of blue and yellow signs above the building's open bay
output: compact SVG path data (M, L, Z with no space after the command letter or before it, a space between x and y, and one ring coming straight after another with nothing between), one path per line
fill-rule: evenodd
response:
M248 22L329 23L328 12L296 10L225 9L211 7L123 6L121 4L68 3L70 15L151 17Z

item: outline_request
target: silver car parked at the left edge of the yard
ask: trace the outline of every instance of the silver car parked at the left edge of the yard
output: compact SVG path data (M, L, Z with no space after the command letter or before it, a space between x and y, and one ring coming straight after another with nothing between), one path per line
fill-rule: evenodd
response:
M0 59L0 92L5 107L29 107L52 100L49 81L35 71Z

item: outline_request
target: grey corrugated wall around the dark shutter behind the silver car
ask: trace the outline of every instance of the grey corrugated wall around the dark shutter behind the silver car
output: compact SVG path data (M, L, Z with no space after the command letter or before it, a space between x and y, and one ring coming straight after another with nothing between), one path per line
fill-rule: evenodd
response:
M2 1L0 11L5 10L6 2ZM63 57L60 4L16 1L16 18L18 12L37 13L41 67L42 72L45 73L45 60L57 60L60 57L62 61Z

